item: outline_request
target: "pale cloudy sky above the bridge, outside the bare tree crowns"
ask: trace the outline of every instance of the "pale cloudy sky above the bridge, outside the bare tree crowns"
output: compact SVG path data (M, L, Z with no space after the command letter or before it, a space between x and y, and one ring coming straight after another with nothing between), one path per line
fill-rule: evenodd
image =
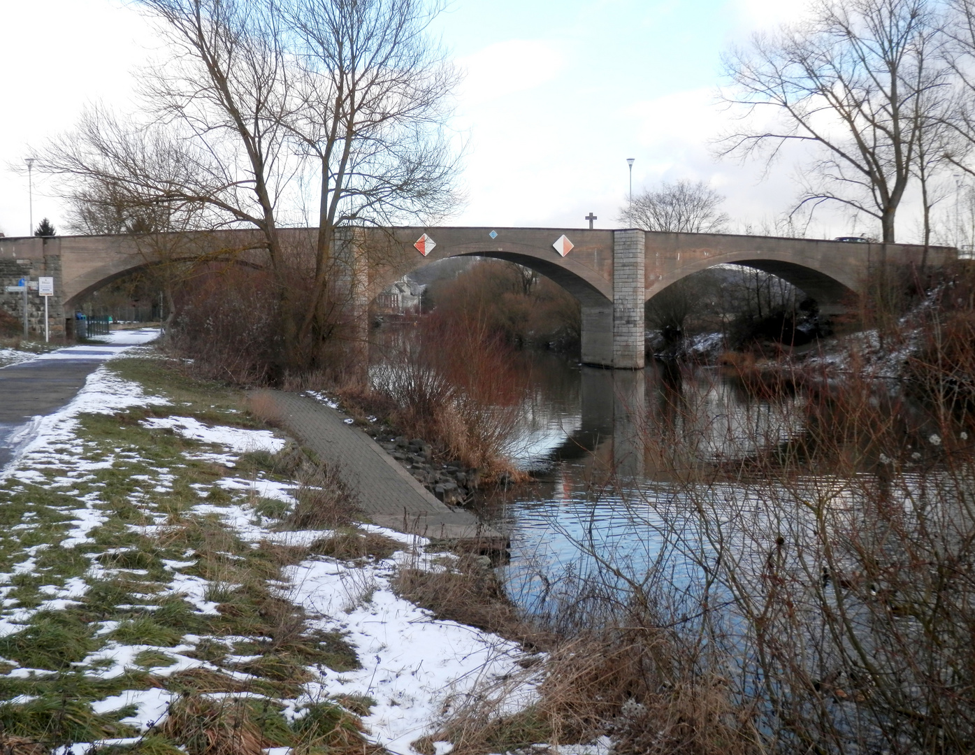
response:
M31 145L71 127L86 102L131 107L134 71L156 46L121 0L8 3L0 15L0 230L28 230L27 179L11 170ZM795 195L788 161L713 157L728 115L715 103L721 54L792 20L800 0L452 0L437 25L467 76L454 126L469 140L461 225L615 227L634 189L704 179L739 227L761 225ZM35 177L36 178L36 177ZM59 202L35 180L34 223ZM857 229L841 221L816 229Z

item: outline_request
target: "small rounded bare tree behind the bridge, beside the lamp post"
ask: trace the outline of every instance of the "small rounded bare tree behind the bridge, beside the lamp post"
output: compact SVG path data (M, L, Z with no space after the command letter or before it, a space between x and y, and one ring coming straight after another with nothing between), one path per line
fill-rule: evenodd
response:
M644 189L620 210L619 219L649 231L718 233L728 217L720 207L724 197L704 181L679 180Z

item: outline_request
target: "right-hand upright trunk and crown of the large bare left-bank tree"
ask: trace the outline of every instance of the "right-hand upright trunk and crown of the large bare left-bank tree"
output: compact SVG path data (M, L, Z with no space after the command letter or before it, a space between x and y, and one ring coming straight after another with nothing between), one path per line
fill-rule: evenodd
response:
M423 33L437 0L292 0L279 6L302 66L285 120L321 190L314 306L301 336L325 328L334 229L442 217L456 198L444 138L457 74Z

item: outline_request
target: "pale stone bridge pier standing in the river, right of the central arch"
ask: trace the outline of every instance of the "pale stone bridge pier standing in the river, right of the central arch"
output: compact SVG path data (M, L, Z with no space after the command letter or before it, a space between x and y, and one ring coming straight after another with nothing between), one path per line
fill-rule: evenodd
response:
M613 231L613 300L582 305L583 364L643 369L645 238L639 228Z

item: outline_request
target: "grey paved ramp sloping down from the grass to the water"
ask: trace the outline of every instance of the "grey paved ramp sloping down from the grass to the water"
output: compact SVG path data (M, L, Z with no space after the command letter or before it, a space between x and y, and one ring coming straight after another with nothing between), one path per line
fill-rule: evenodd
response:
M344 423L340 413L308 396L260 392L273 399L282 423L306 448L339 466L375 524L434 539L481 542L486 551L507 547L506 537L438 500L369 435Z

